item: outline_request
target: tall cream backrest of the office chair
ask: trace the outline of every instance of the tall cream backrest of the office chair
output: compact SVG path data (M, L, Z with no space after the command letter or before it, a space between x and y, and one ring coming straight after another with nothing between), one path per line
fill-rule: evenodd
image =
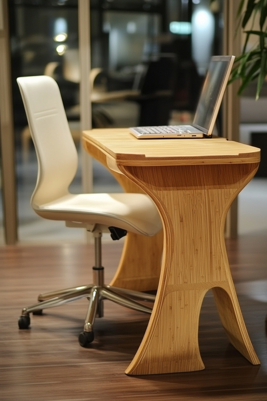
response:
M58 85L47 76L17 79L38 159L32 207L68 194L78 166L78 155Z

